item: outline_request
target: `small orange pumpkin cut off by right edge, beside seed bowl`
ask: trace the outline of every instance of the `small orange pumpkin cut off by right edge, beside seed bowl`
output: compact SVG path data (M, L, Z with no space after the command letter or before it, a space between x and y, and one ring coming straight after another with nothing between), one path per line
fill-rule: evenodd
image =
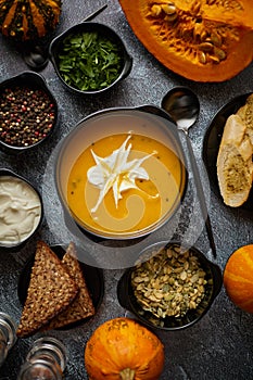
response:
M238 307L253 313L253 244L231 254L224 269L224 287Z

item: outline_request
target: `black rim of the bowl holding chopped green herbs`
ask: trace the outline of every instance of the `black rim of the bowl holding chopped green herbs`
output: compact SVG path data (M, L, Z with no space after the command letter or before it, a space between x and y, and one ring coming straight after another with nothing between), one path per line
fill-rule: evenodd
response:
M110 35L113 36L113 38L115 38L115 40L118 42L118 45L121 45L122 51L124 53L124 64L123 64L123 68L122 68L121 74L110 86L102 88L102 89L99 89L99 90L85 90L85 91L83 91L83 90L79 90L78 88L75 88L75 87L66 84L66 81L63 79L62 75L59 72L59 67L58 67L58 63L56 63L56 59L55 59L55 49L58 49L58 45L60 45L69 34L74 33L75 30L79 30L83 27L86 28L86 26L88 28L91 25L92 25L92 27L97 27L99 29L105 29L105 30L110 31ZM74 93L79 93L79 94L98 94L98 93L102 93L102 92L111 89L119 80L125 79L129 75L131 67L132 67L132 58L128 53L128 50L126 48L126 43L124 42L122 37L118 35L118 33L106 24L99 23L99 22L92 22L92 21L80 22L78 24L75 24L75 25L71 26L69 28L67 28L66 30L62 31L59 36L54 37L53 40L49 45L49 59L54 67L54 71L55 71L59 79L62 81L62 84L68 90L73 91Z

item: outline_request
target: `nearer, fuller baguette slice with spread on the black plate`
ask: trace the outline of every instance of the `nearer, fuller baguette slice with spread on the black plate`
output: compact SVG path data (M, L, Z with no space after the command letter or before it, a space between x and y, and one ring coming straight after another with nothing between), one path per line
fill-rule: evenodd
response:
M242 205L250 194L253 145L240 113L226 122L217 156L218 185L225 204Z

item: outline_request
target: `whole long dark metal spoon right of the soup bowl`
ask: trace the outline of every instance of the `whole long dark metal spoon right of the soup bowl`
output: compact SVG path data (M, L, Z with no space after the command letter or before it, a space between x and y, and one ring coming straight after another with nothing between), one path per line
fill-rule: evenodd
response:
M197 193L200 200L200 206L202 211L203 218L205 219L206 232L210 240L210 245L213 251L214 257L216 257L216 248L214 242L214 236L212 231L212 225L210 221L210 216L207 212L207 206L205 202L205 195L203 186L200 179L200 173L197 165L194 152L190 138L188 136L190 127L195 123L200 113L200 102L194 92L188 87L175 87L168 91L162 100L162 109L165 110L174 122L177 124L179 130L182 130L186 140L187 148L189 151L191 169L193 178L195 181Z

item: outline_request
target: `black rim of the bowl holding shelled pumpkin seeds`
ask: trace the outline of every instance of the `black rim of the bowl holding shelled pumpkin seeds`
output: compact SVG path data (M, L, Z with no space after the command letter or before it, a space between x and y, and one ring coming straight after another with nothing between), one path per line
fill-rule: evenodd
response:
M141 250L139 256L141 256L143 253L146 253L147 251L152 250L155 246L159 246L160 249L163 249L165 246L169 246L169 245L179 245L179 246L184 246L181 244L180 240L169 240L169 241L156 241L154 243L151 243L149 245L147 245L144 249ZM202 251L200 251L195 245L191 245L190 248L188 248L189 250L192 250L194 253L198 254L198 257L201 257L201 262L204 262L208 267L212 273L212 277L214 280L216 280L216 282L214 281L213 283L213 290L212 290L212 294L210 296L208 300L208 304L207 306L204 308L204 311L194 319L192 319L191 321L185 324L185 325L180 325L180 326L173 326L173 327L164 327L164 326L156 326L155 324L153 324L152 321L150 321L149 319L144 318L142 315L140 315L138 313L138 311L136 309L135 305L131 302L131 296L129 293L129 288L130 288L130 276L132 270L135 269L136 266L131 266L129 268L127 268L118 283L117 283L117 299L119 304L125 307L128 312L132 313L132 315L138 318L143 325L149 326L152 329L157 329L161 331L179 331L179 330L184 330L186 328L189 328L193 325L195 325L200 319L202 319L202 317L204 317L204 315L207 314L207 312L211 309L212 304L214 302L214 300L216 299L216 296L219 294L222 288L223 288L223 273L220 267L217 264L214 264L213 262L211 262ZM125 293L125 294L124 294ZM125 297L125 300L124 300ZM127 297L127 301L126 301Z

